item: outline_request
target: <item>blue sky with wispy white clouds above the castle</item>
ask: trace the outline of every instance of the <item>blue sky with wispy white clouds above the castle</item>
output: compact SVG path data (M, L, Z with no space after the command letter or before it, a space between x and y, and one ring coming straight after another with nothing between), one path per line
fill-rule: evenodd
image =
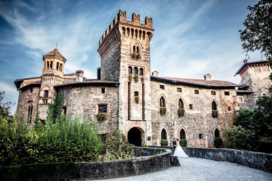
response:
M257 0L180 1L1 1L0 91L18 101L13 83L42 74L44 54L57 49L67 59L65 73L82 69L96 78L99 38L119 9L152 17L151 71L160 77L198 78L239 83L243 65L239 29ZM265 59L265 58L264 58ZM249 61L261 60L254 52ZM14 106L15 110L16 107Z

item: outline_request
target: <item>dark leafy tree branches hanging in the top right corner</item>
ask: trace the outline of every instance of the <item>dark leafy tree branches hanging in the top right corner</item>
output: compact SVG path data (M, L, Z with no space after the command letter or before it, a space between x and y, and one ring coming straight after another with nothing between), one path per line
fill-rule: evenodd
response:
M272 68L272 0L260 0L248 9L250 13L243 23L245 29L239 30L244 52L248 56L248 53L260 50Z

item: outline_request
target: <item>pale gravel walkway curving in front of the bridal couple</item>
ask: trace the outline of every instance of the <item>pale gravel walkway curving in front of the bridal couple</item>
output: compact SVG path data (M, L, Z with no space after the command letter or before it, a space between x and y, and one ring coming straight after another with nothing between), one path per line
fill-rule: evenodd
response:
M167 170L129 176L104 181L193 181L193 180L272 180L272 173L263 172L226 161L214 161L203 158L180 158L181 167L171 167ZM100 180L103 181L103 180Z

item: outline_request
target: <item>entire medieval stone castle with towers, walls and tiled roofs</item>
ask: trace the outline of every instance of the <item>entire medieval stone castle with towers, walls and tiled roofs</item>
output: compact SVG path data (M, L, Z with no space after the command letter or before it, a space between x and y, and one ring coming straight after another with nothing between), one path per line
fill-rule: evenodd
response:
M63 91L62 114L91 116L101 134L118 129L136 146L160 145L162 139L171 145L176 137L190 147L212 148L215 137L225 138L224 129L240 108L252 109L258 96L269 96L267 61L244 60L236 73L241 84L212 80L209 74L204 79L159 77L157 71L151 75L152 28L152 18L142 24L133 13L128 21L120 10L99 40L97 79L84 78L82 70L64 74L66 59L60 52L45 54L40 77L14 81L20 91L18 116L31 125L39 111L45 122L49 104ZM99 121L98 113L106 113L107 119Z

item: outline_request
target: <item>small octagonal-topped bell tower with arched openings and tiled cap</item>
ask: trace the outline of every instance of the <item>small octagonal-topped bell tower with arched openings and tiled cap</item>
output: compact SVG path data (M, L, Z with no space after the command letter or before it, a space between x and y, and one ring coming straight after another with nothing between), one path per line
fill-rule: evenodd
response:
M43 56L44 69L41 76L39 113L40 118L46 120L47 110L50 103L57 97L57 91L54 86L63 84L64 64L66 59L57 49Z

